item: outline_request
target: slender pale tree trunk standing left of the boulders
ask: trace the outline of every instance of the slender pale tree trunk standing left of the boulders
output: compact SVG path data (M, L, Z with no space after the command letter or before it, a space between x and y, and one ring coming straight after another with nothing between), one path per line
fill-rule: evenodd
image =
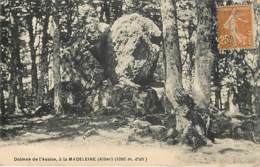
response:
M53 82L54 82L54 110L56 114L62 113L61 104L61 75L60 75L60 25L59 0L55 0L54 36L53 36Z

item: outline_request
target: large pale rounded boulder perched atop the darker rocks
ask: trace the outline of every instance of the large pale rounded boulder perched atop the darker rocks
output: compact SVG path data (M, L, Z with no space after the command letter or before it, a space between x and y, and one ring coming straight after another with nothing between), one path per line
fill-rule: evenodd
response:
M119 18L111 28L118 78L140 85L150 82L160 51L153 39L160 36L161 31L153 21L139 14Z

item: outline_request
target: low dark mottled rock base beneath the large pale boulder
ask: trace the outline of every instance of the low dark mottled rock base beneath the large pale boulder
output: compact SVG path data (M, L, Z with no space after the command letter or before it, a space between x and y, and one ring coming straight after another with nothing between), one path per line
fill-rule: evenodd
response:
M94 111L104 114L138 115L162 113L163 106L153 89L142 89L129 81L115 86L110 81L104 81L102 86L89 97L88 103Z

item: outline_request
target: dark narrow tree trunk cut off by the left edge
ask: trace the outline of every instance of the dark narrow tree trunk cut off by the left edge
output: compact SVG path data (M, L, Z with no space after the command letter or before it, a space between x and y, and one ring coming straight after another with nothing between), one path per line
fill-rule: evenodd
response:
M0 3L0 16L2 16L2 4ZM3 117L5 115L5 102L4 102L4 79L3 79L3 70L2 70L2 21L0 20L0 113Z

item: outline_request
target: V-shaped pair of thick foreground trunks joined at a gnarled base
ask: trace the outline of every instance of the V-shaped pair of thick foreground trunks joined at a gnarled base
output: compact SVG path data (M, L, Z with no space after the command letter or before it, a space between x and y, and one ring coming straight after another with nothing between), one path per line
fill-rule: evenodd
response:
M166 59L166 99L176 117L176 130L182 142L197 148L206 144L208 136L207 118L210 117L211 71L213 66L212 22L214 2L196 1L197 4L197 43L195 48L195 78L193 98L183 89L182 63L178 41L176 1L162 0L164 54Z

